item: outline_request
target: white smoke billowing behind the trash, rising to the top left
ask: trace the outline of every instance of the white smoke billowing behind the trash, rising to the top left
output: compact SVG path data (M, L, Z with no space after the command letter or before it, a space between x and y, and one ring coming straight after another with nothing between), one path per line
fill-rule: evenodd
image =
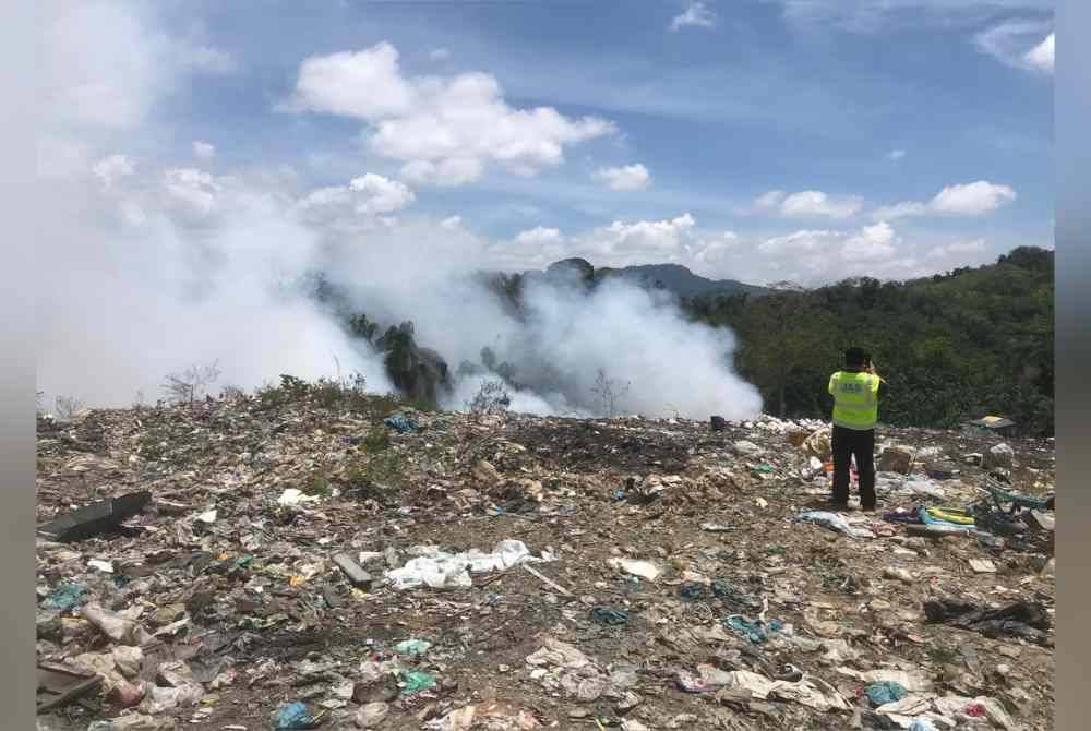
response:
M381 356L293 287L321 271L384 327L411 320L418 345L439 351L453 373L464 361L480 366L490 347L514 372L517 411L601 410L592 393L600 369L628 385L619 411L759 410L756 391L731 372L730 333L686 322L661 293L619 281L590 292L528 281L523 319L512 316L473 276L497 248L453 219L396 217L415 201L401 183L361 170L341 185L300 190L290 171L156 163L154 110L202 72L194 59L214 51L155 31L142 14L149 5L65 4L48 14L44 44L39 183L55 202L37 303L47 399L125 406L143 392L154 400L168 373L213 362L219 386L339 369L362 373L370 391L391 390ZM103 53L109 67L81 62ZM230 65L204 64L217 73ZM495 378L457 378L444 405L464 407Z

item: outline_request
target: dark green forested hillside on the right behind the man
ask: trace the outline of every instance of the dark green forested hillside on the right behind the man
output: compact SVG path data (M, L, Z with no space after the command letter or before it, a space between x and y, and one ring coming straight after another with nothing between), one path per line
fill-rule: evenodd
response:
M696 297L683 309L734 331L734 366L769 412L827 416L829 374L858 345L888 382L885 423L947 428L995 415L1052 435L1053 267L1052 251L1023 247L931 278Z

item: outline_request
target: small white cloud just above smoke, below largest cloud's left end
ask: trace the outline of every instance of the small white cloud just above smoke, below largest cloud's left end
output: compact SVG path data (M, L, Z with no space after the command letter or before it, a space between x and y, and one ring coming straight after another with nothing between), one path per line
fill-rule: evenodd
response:
M370 228L383 214L401 211L415 200L405 183L369 172L348 185L312 191L296 204L296 212L308 223L353 230Z

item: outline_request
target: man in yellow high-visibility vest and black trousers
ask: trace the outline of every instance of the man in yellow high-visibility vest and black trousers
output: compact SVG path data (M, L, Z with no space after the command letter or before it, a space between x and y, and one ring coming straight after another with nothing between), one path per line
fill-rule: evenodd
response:
M844 368L829 378L828 390L834 396L835 507L849 506L849 463L855 457L860 507L875 510L875 423L882 383L871 356L860 348L846 350Z

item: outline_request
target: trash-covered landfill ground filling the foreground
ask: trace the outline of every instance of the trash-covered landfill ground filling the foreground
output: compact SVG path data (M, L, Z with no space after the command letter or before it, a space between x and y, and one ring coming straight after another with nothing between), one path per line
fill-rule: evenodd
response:
M822 422L409 409L399 433L389 398L319 400L39 418L39 526L151 492L38 539L39 664L100 678L39 729L1053 728L1052 511L998 538L884 519L1052 494L1052 441L880 427L910 475L850 536L796 519L828 510ZM386 577L502 541L529 561Z

